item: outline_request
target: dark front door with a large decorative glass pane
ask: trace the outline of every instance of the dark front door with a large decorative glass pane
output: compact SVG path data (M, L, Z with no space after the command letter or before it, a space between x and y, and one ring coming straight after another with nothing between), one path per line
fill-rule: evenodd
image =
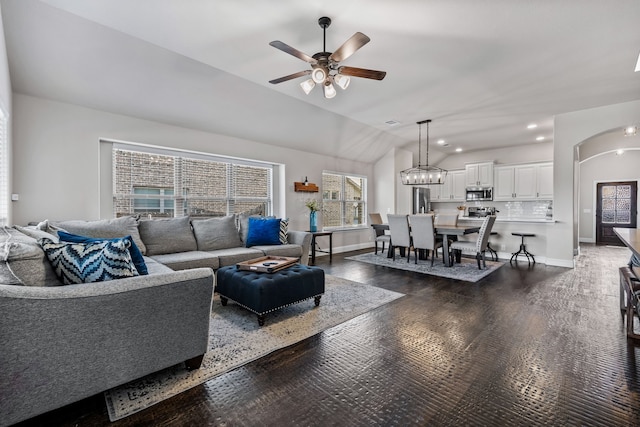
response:
M623 246L613 227L636 227L637 185L636 181L597 185L596 244Z

